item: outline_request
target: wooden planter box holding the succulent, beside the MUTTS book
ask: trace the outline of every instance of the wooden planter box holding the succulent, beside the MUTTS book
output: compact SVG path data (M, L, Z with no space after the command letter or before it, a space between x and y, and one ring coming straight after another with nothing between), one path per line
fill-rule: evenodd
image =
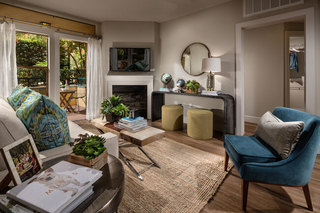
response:
M68 156L68 161L70 163L99 170L108 162L108 152L107 150L105 150L102 154L90 160L87 160L84 156L79 156L71 153Z

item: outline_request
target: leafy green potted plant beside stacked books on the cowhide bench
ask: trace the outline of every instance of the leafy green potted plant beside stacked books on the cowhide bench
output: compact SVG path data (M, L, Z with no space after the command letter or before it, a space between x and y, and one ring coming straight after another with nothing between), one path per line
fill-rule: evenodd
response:
M121 96L115 96L114 94L105 99L101 103L102 109L100 110L100 114L103 114L102 120L106 117L107 122L117 122L120 118L128 116L128 107L125 106L122 101L124 99Z

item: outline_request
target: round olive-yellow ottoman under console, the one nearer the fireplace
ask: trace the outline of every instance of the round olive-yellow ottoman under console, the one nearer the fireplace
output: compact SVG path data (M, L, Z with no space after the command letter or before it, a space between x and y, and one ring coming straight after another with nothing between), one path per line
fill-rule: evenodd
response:
M163 105L162 128L170 131L183 129L183 106L176 104Z

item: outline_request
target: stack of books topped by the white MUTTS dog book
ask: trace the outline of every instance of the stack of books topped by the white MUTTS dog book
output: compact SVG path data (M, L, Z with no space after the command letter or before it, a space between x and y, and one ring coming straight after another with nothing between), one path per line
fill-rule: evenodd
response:
M6 195L40 213L61 213L78 199L88 197L89 188L101 176L99 170L61 161Z

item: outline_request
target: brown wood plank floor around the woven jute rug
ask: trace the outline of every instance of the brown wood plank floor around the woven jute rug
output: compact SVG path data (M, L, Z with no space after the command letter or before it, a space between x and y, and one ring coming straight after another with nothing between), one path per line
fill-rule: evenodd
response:
M78 124L89 124L80 121ZM152 122L152 126L161 128L161 121ZM245 135L253 135L255 123L245 123ZM224 157L223 137L215 135L210 140L195 140L187 135L187 126L181 131L165 131L165 137L179 143ZM311 181L310 195L314 213L320 213L320 155L317 155ZM283 187L277 185L249 183L248 213L310 213L302 187ZM200 211L200 213L243 213L241 209L241 178L233 167L219 191Z

